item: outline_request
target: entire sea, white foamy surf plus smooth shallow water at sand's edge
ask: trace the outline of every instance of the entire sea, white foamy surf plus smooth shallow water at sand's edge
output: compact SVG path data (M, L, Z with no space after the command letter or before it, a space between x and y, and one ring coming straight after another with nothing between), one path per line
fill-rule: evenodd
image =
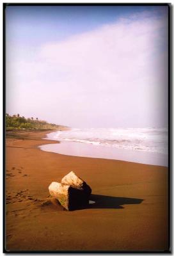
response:
M49 152L168 166L167 128L72 128L47 139L60 141L40 146Z

